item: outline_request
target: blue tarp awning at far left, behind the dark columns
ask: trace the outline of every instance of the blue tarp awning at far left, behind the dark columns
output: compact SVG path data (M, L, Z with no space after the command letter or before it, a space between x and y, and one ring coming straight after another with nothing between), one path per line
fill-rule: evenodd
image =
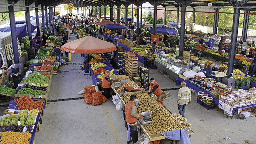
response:
M27 36L26 24L17 24L15 26L16 26L16 33L17 33L18 39L21 39L23 36ZM36 29L36 26L31 24L31 31L34 31L35 29ZM11 31L11 27L6 26L4 28L0 28L0 31L1 32Z

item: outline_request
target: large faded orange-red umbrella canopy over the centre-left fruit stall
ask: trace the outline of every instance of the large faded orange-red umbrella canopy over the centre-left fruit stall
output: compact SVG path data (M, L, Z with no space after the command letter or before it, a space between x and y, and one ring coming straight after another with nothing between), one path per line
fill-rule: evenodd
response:
M116 51L116 46L92 36L85 36L62 45L60 50L74 53L100 53Z

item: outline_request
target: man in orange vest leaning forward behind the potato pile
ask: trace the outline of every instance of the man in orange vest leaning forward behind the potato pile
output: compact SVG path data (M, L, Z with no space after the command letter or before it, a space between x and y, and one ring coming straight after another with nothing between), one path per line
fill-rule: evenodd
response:
M151 91L148 92L148 94L150 93L154 93L157 96L157 99L160 99L161 94L162 94L162 90L160 88L160 85L155 81L154 78L150 78L150 83L144 85L143 87L143 93L145 93L146 89L150 86Z

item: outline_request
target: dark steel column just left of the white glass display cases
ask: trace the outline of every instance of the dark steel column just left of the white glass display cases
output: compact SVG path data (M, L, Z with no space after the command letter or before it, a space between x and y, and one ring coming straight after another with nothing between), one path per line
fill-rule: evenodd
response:
M184 2L181 8L181 18L180 18L180 58L183 59L183 49L184 49L184 37L185 37L185 18L186 18L186 7Z

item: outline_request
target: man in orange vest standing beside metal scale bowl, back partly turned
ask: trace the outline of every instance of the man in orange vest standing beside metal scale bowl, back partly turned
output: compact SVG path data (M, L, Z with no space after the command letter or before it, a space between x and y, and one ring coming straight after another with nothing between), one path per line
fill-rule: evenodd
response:
M125 106L125 121L127 123L127 144L132 142L135 144L138 141L137 118L143 119L143 116L137 115L137 108L135 106L136 96L132 95L130 101ZM132 140L131 140L132 136Z

